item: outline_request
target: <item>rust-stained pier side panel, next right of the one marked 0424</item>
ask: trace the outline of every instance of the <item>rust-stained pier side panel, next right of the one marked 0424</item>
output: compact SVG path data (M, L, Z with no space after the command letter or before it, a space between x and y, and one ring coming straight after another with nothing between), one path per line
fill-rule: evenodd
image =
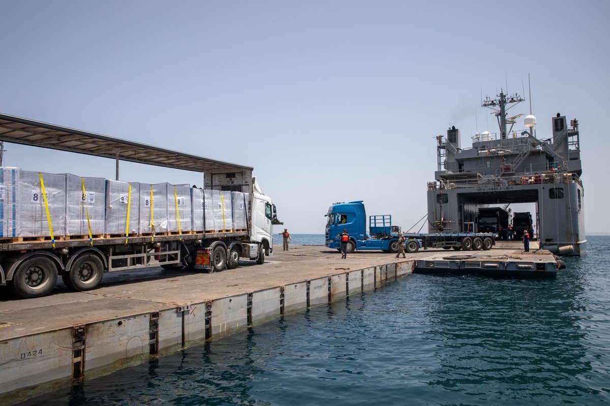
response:
M149 313L87 324L85 370L148 354Z

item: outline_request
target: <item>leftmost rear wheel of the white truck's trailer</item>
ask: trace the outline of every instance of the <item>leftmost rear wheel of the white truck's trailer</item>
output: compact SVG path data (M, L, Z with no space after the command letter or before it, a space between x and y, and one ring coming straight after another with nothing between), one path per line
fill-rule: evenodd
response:
M57 283L57 267L48 257L35 256L21 262L13 279L7 281L10 290L22 298L48 295Z

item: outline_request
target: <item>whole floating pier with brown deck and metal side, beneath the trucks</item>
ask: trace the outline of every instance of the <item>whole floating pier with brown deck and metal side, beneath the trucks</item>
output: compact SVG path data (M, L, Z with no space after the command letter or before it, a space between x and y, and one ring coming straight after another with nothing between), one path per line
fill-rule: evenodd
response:
M96 290L71 292L58 284L52 295L35 299L15 298L1 285L0 403L23 401L285 312L375 290L413 271L459 273L473 270L473 264L498 264L489 269L505 275L512 266L531 271L555 266L551 254L514 247L422 250L406 259L378 251L341 259L337 250L321 246L275 251L264 265L243 261L235 270L212 274L157 267L115 272L104 275Z

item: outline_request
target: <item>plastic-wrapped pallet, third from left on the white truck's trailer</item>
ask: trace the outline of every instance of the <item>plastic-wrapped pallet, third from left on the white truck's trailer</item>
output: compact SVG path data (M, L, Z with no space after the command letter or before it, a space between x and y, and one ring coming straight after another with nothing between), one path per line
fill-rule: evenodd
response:
M66 236L88 236L89 225L91 235L104 234L105 195L106 179L66 173Z

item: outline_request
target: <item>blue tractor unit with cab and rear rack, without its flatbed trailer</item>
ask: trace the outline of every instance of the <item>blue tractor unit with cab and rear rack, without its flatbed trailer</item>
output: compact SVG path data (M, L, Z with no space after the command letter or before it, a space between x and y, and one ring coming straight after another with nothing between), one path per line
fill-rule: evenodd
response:
M400 227L392 226L391 215L371 215L368 219L362 200L334 203L326 213L326 247L341 247L339 236L343 229L350 234L347 251L382 250L398 252Z

